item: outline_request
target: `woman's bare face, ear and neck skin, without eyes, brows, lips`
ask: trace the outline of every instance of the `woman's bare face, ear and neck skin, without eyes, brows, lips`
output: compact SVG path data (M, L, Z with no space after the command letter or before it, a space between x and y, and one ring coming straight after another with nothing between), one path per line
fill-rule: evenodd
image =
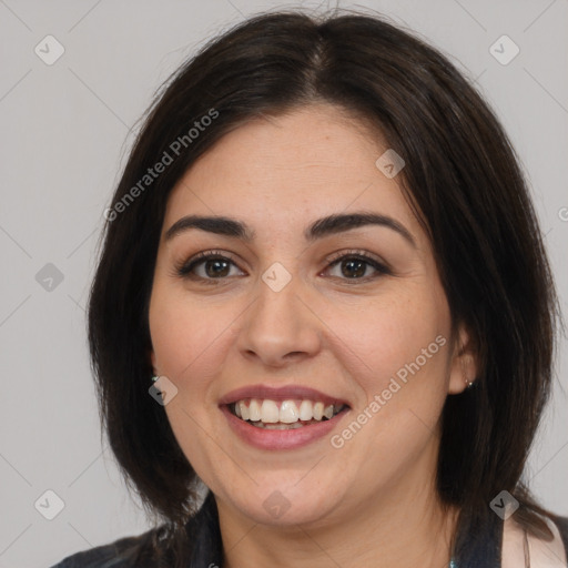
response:
M375 165L386 148L342 110L305 106L225 135L170 195L150 304L151 361L178 387L164 408L215 495L225 567L449 560L456 511L444 510L435 491L439 417L446 396L475 377L475 357L467 332L452 334L432 246L399 176ZM395 219L416 246L377 225L304 240L315 220L362 211ZM165 240L189 214L236 219L255 237L190 229ZM232 256L223 278L203 263L194 270L201 281L176 274L209 250ZM363 265L359 280L349 277L354 250L392 274ZM331 264L342 252L347 261ZM280 292L262 280L275 262L292 277ZM213 284L203 282L207 274ZM257 449L219 408L234 388L305 385L349 402L332 433L341 434L437 336L445 345L341 448L324 436L297 449ZM290 504L277 519L263 507L275 490Z

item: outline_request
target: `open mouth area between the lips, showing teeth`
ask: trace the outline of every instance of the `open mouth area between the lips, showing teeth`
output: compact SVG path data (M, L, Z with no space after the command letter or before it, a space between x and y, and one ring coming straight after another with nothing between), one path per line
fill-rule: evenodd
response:
M321 400L243 398L227 405L231 414L241 420L272 430L304 428L331 420L348 409L345 404L325 405Z

